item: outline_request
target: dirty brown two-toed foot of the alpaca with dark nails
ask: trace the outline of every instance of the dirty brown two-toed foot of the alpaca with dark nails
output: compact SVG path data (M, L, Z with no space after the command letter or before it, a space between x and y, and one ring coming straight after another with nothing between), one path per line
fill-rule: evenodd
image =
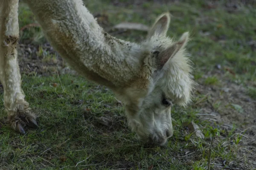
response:
M30 112L30 108L26 108L24 110L18 110L17 112L9 111L8 115L9 115L8 121L12 129L18 133L25 134L26 131L24 130L24 128L26 126L32 127L32 128L38 127L36 116L34 113Z

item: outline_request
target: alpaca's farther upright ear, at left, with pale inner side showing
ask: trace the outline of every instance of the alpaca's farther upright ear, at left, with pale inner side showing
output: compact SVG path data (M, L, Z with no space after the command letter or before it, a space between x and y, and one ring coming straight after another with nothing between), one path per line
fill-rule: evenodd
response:
M166 33L169 28L170 24L170 14L169 12L164 13L157 17L155 20L154 25L149 29L147 38L152 37L153 35L157 34L159 36L166 36Z

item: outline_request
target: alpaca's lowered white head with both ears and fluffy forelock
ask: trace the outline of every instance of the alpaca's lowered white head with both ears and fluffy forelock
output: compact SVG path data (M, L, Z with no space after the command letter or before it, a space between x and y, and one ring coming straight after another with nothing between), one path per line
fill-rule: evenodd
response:
M172 136L171 106L185 106L194 82L186 56L189 34L175 41L166 36L170 14L162 14L141 44L141 70L122 91L128 123L145 142L164 144Z

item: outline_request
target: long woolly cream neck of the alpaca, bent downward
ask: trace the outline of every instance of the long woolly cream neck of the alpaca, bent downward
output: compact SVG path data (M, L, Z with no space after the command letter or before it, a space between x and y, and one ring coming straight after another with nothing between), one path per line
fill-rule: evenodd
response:
M110 88L122 88L141 67L140 47L107 34L81 0L26 0L47 40L72 68Z

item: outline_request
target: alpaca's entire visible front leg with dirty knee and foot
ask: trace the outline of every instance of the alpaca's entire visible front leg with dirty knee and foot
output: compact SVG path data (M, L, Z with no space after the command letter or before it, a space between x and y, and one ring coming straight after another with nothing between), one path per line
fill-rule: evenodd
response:
M0 2L0 81L4 88L4 106L9 123L15 131L25 133L26 125L37 127L37 122L21 88L17 61L18 2L19 0Z

